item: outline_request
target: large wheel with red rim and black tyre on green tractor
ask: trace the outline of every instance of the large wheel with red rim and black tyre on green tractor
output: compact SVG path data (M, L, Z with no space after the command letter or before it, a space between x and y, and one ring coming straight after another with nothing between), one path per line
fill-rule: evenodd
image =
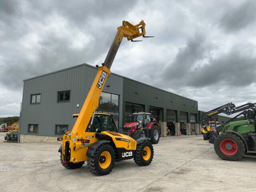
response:
M214 141L214 150L223 160L237 161L246 153L246 144L234 133L223 133Z

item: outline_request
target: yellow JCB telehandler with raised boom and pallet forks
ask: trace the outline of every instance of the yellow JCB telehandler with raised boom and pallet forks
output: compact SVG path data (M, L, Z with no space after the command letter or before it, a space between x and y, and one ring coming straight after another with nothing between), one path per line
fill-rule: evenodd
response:
M59 152L60 161L65 168L80 168L87 161L90 172L106 175L114 168L115 161L134 158L135 163L140 166L152 162L154 150L149 138L132 138L120 134L110 115L95 113L122 38L135 42L134 38L149 37L145 36L145 25L143 20L137 25L123 21L122 26L117 28L116 37L104 63L101 67L96 66L96 77L80 113L73 115L77 120L72 131L57 139L62 140Z

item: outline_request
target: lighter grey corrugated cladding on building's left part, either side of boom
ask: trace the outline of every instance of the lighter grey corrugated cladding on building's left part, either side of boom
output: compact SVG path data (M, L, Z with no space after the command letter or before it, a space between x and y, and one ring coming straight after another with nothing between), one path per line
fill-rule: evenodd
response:
M21 134L29 134L28 124L38 124L38 135L44 136L53 136L56 124L68 124L68 129L71 130L75 122L71 116L80 112L96 71L96 68L84 64L24 80ZM105 86L103 91L122 95L122 82L122 77L111 75L106 81L106 85L111 84L111 86ZM58 91L65 90L70 90L70 102L58 103ZM41 94L41 103L30 104L30 95L37 93ZM77 104L79 107L76 106Z

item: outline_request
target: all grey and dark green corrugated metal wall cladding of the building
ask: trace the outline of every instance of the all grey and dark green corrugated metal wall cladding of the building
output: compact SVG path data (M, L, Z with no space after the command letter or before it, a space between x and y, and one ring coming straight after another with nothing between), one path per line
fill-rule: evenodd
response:
M24 80L20 131L28 134L28 124L39 124L38 135L53 136L56 124L68 124L72 129L75 119L72 114L79 113L90 86L96 75L96 68L81 64L42 76ZM111 74L103 92L119 95L119 126L123 124L124 102L163 108L166 110L197 113L198 102L152 86ZM57 92L70 90L70 102L58 103ZM139 94L135 92L139 91ZM41 93L39 105L30 104L30 95ZM157 99L159 97L159 99ZM171 102L174 101L174 102ZM77 108L76 105L80 106ZM178 117L179 118L179 117Z

